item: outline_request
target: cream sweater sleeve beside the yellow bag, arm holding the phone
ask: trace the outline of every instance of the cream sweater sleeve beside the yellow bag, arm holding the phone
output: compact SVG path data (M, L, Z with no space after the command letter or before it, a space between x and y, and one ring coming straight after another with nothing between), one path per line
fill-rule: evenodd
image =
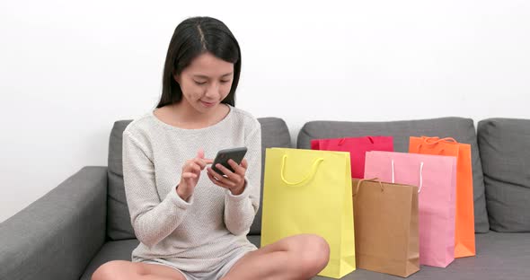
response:
M246 182L243 193L234 196L229 190L225 195L225 225L234 235L249 232L254 216L260 207L261 189L261 125L255 120L251 133L246 137L248 147Z

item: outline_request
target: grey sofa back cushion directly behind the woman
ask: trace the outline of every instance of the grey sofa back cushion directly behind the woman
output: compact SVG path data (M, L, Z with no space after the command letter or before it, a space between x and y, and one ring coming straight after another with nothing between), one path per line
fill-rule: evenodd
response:
M291 136L285 121L281 118L258 118L261 124L261 163L265 161L265 149L269 147L290 147ZM125 187L123 184L122 167L122 136L131 120L119 120L114 123L110 132L109 144L109 189L107 234L110 240L126 240L136 238L130 223ZM263 193L263 167L261 164L261 194ZM261 232L261 207L254 218L251 234Z

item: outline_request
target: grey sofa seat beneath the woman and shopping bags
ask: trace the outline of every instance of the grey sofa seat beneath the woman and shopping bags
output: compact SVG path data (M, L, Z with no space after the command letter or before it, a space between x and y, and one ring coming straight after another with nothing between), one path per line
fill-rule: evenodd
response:
M530 278L530 233L479 233L476 234L477 256L457 258L446 268L422 266L421 270L407 279L428 280L487 280L510 279L526 280ZM259 235L249 235L248 240L260 247ZM114 259L130 260L131 252L138 245L137 240L110 241L105 243L100 252L86 268L81 280L90 280L93 272L107 261ZM316 276L313 280L329 279ZM402 277L357 269L342 280L398 280Z

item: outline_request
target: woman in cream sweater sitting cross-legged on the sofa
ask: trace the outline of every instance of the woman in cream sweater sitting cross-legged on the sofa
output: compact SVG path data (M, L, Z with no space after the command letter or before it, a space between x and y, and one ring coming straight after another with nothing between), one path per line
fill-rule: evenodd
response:
M110 261L93 280L308 279L327 265L328 244L315 235L261 249L246 239L260 203L261 126L234 107L240 70L239 45L223 22L196 17L177 26L158 106L123 133L140 244L132 262ZM229 162L234 172L211 169L218 150L241 146L248 153Z

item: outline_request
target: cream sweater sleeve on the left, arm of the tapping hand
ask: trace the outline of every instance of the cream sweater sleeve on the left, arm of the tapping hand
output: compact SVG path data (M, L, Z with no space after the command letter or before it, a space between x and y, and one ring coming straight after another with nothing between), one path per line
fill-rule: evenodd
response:
M137 239L152 247L179 226L193 203L193 197L186 202L176 190L170 191L163 199L159 197L155 185L155 165L146 145L126 130L122 148L123 179L131 223Z

